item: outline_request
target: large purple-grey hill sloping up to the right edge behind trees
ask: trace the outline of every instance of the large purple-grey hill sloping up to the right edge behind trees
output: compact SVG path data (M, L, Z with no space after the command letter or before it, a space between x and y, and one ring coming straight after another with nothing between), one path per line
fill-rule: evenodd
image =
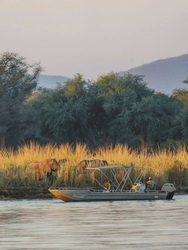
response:
M119 72L120 75L127 73L143 75L149 88L156 92L172 94L174 89L187 87L183 81L188 78L188 54Z

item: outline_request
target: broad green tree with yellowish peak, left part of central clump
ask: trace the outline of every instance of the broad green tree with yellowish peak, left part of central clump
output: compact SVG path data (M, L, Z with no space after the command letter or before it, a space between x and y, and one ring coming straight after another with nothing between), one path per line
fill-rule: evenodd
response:
M30 110L33 107L37 114L36 134L43 140L59 143L86 142L84 126L89 108L86 86L82 76L76 75L64 86L29 101Z

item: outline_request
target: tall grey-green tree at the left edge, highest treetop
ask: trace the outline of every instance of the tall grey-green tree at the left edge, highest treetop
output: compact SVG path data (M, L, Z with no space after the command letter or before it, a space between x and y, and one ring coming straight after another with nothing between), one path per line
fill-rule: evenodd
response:
M18 54L6 52L0 58L0 137L11 142L19 136L23 103L37 86L41 71L38 64L29 65Z

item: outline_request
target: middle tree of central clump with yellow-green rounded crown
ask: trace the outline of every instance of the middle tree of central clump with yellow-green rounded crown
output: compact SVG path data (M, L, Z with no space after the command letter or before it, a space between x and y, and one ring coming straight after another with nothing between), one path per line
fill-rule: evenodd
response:
M147 88L141 76L131 74L119 76L110 73L99 77L95 85L103 108L101 124L104 143L122 141L127 135L137 137L132 129L135 119L133 107L142 98L153 95L154 91Z

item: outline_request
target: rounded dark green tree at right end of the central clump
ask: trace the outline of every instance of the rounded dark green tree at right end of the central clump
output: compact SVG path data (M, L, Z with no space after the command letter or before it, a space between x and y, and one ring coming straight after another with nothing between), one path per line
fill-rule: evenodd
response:
M176 119L180 108L181 103L176 98L161 93L143 98L139 105L134 106L133 128L151 146L178 137L180 129L176 126Z

